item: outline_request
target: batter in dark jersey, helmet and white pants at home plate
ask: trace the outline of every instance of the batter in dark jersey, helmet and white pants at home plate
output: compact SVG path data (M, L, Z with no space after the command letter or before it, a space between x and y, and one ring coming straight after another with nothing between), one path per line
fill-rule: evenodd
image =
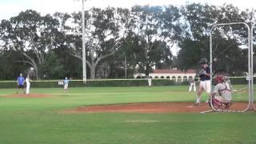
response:
M198 73L200 84L195 105L201 104L201 95L203 90L205 90L207 94L210 94L210 66L208 66L206 58L201 58L199 63L202 66L202 70Z

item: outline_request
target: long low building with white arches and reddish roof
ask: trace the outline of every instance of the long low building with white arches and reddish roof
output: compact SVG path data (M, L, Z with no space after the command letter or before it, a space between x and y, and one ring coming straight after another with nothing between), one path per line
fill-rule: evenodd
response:
M188 78L194 78L196 76L196 70L154 70L153 73L150 73L151 78L168 78L174 80L176 82L183 82L187 81ZM135 74L134 78L142 78L145 77L145 74Z

